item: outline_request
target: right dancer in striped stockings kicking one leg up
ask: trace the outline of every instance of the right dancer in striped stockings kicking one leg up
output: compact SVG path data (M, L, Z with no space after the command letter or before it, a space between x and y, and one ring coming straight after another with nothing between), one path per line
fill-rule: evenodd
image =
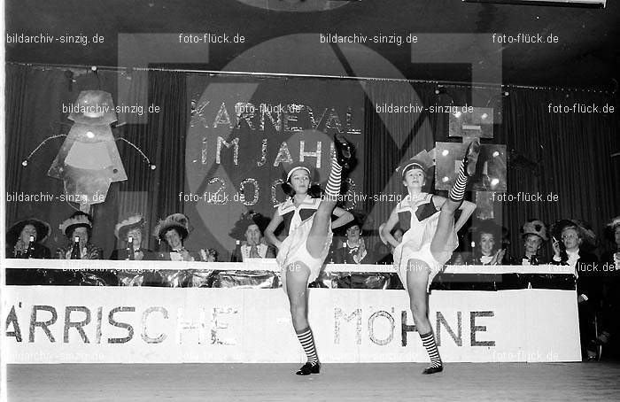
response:
M418 153L397 169L408 194L391 212L383 234L394 246L394 265L409 295L415 328L429 353L430 366L422 372L426 375L443 370L428 318L430 282L458 247L456 232L476 209L475 204L463 201L463 197L469 176L476 172L479 151L480 140L474 139L465 152L461 171L448 198L422 192L427 181L426 171L433 164L428 152ZM461 210L461 217L454 222L457 210ZM397 223L406 230L400 244L391 236L391 229Z

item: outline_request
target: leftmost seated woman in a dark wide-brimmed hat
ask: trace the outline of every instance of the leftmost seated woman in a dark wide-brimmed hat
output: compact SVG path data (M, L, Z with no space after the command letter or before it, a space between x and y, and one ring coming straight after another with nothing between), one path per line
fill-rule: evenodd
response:
M49 259L50 249L42 243L50 236L50 224L38 219L19 220L6 233L7 259ZM35 241L30 244L30 237ZM31 251L28 250L31 247Z

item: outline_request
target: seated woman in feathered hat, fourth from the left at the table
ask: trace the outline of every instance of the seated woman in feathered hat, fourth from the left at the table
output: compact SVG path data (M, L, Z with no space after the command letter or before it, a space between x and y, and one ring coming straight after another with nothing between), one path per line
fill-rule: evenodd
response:
M190 235L190 220L182 213L168 215L165 220L159 220L154 229L154 235L164 241L169 252L160 252L159 259L167 261L196 261L200 260L198 253L188 251L183 243Z

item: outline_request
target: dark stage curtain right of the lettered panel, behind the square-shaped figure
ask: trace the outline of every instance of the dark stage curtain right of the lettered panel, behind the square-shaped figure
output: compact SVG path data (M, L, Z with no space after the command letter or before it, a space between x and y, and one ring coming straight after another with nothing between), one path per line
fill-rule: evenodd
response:
M461 142L461 138L447 137L445 113L377 112L377 105L415 104L418 99L426 107L470 104L468 88L448 86L440 94L435 89L437 86L432 84L368 82L365 141L366 149L372 151L366 157L373 160L364 173L368 194L402 192L399 176L394 174L401 160L422 149L430 150L435 141ZM510 251L514 256L523 252L519 229L525 220L538 218L552 223L562 218L581 219L591 223L601 238L605 223L620 213L620 163L617 157L611 157L620 150L618 113L553 113L548 111L549 104L597 104L600 111L609 104L618 110L613 95L549 89L510 89L501 102L490 93L488 104L478 105L495 109L494 138L484 139L483 143L507 146L507 193L557 195L556 202L504 202L496 208L496 217L511 233ZM372 211L378 226L387 220L394 205L374 202L369 197L366 209ZM601 241L601 250L607 246ZM549 244L546 247L548 256Z

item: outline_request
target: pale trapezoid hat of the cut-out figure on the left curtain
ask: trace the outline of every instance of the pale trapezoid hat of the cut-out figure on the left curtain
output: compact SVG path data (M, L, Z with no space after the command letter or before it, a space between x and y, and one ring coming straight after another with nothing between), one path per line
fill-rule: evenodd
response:
M116 121L112 95L103 90L82 90L67 119L89 125L110 125Z

